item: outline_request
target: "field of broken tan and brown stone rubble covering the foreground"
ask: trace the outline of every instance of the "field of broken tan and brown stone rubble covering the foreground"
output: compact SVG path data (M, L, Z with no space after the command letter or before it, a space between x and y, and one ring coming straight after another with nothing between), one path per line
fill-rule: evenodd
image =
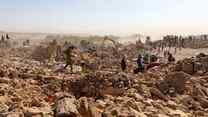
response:
M134 74L134 47L87 53L85 72L77 56L72 74L33 59L32 48L1 49L0 117L208 117L208 55Z

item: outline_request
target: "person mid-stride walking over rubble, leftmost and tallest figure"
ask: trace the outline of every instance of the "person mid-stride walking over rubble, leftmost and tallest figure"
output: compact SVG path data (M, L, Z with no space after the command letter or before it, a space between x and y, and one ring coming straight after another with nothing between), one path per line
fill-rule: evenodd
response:
M66 55L66 65L64 66L64 69L66 69L70 65L71 73L73 73L73 60L72 60L72 51L73 51L73 49L75 49L75 47L70 45L64 51L64 54Z

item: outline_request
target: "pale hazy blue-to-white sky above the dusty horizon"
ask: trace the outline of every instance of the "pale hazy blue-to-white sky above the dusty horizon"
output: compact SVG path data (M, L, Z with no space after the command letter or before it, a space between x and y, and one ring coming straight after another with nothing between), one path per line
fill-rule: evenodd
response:
M0 0L0 30L150 36L208 31L207 0Z

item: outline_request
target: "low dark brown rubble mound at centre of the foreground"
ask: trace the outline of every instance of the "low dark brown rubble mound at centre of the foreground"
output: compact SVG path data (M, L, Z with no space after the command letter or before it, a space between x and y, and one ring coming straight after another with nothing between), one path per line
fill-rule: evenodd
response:
M95 72L73 80L69 86L78 98L82 96L101 98L104 95L122 95L131 88L132 80L124 73Z

